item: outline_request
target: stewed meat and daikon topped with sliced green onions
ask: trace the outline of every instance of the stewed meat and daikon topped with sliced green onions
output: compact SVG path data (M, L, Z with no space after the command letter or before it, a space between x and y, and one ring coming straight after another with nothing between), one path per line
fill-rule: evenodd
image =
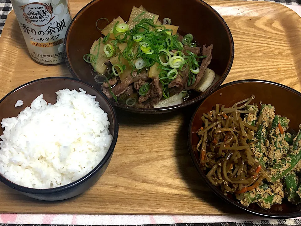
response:
M101 29L103 22L107 26ZM200 48L192 34L180 35L171 19L162 22L143 6L134 6L127 22L120 16L96 21L103 37L83 59L109 99L140 108L168 107L198 96L219 80L207 68L213 45Z

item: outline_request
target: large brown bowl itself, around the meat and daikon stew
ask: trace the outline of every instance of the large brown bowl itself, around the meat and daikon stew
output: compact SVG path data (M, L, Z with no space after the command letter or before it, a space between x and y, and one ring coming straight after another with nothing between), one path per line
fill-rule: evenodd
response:
M113 18L121 16L125 21L133 6L143 5L146 10L160 15L159 19L170 18L172 24L179 26L180 33L193 34L195 40L203 46L213 44L212 60L209 68L221 76L211 89L183 104L165 108L142 109L121 105L112 101L113 106L138 113L164 113L176 110L204 99L211 94L227 77L234 58L234 43L231 32L224 19L207 3L200 0L94 0L87 4L73 18L64 41L66 64L71 75L79 78L96 89L99 84L94 81L93 70L82 56L90 52L95 40L103 37L96 28L99 18Z

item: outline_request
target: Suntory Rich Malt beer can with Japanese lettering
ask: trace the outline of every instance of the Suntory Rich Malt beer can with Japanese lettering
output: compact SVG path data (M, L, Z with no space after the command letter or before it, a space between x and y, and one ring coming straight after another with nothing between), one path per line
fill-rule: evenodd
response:
M42 64L64 61L71 22L68 0L11 0L30 56Z

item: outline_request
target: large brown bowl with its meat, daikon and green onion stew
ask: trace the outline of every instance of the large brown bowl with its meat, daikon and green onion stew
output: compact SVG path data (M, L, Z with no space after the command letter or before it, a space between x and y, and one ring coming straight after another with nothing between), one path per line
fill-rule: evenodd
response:
M71 75L112 105L156 114L219 87L234 42L224 19L200 0L94 0L72 20L64 54Z

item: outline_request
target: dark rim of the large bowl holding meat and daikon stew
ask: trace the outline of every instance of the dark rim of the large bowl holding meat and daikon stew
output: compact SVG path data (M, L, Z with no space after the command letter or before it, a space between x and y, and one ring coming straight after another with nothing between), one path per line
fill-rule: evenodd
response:
M80 15L87 10L87 8L89 8L90 6L92 6L93 4L95 4L96 2L101 1L101 0L93 0L90 3L88 3L87 5L85 5L76 15L75 17L72 19L71 23L68 26L68 29L66 31L66 35L64 38L64 58L65 58L65 62L66 65L68 67L69 72L71 73L71 75L74 78L77 78L80 80L80 78L77 76L77 73L75 73L75 71L73 70L71 63L70 63L70 58L69 58L69 51L67 49L68 46L68 41L69 41L69 31L70 29L74 26L74 23L77 21L77 18L80 17ZM111 104L113 106L116 106L118 108L121 108L123 110L127 110L127 111L132 111L132 112L136 112L136 113L166 113L172 110L177 110L183 107L186 107L188 105L193 105L195 103L198 103L199 101L203 100L204 98L208 97L211 93L213 93L216 89L219 88L219 86L224 82L224 80L226 79L226 77L228 76L230 69L232 67L233 64L233 60L234 60L234 40L231 34L231 31L227 25L227 23L225 22L225 20L222 18L222 16L214 9L212 8L208 3L205 3L203 0L193 0L196 2L201 3L203 6L205 6L208 10L210 10L212 13L214 13L216 15L216 17L219 19L219 21L221 22L221 24L223 24L224 29L227 33L228 39L230 41L230 60L229 60L229 64L225 70L225 72L221 75L221 78L219 80L218 83L216 83L214 86L212 86L208 91L206 91L205 93L199 95L197 98L193 99L193 100L189 100L189 101L185 101L182 104L179 105L174 105L174 106L170 106L170 107L163 107L163 108L137 108L137 107L131 107L131 106L127 106L127 105L122 105L119 103L116 103L112 100ZM92 86L92 84L90 84L90 86Z

